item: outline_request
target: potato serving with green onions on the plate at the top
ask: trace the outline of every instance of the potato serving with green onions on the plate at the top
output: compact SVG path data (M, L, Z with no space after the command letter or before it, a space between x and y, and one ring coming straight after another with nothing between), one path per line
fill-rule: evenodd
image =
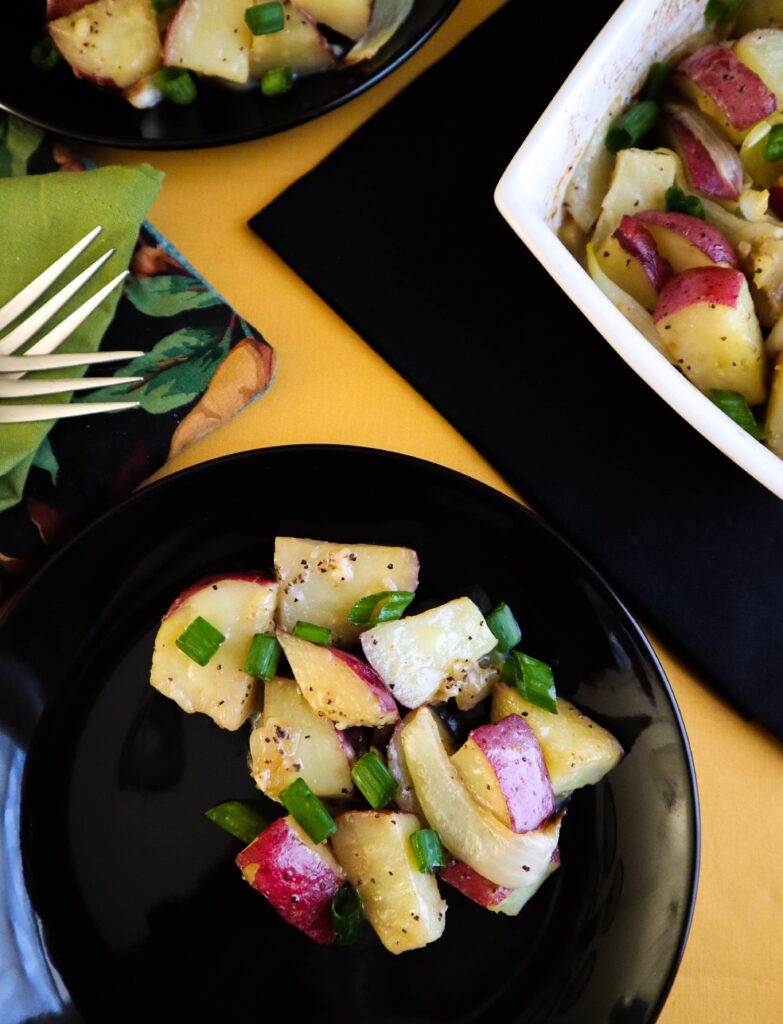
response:
M198 95L193 75L266 96L297 78L374 56L414 0L47 0L48 35L31 60L62 57L78 78L121 92L134 106Z

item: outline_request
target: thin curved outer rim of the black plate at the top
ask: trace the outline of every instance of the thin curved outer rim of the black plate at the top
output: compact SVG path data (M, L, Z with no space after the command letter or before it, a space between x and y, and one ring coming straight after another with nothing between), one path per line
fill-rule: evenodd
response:
M363 92L366 92L367 89L372 89L373 86L383 81L383 79L385 79L388 75L391 75L392 72L396 71L400 65L403 65L417 52L417 50L424 46L424 44L432 36L434 36L443 23L450 16L459 3L460 0L441 0L441 6L433 14L432 18L425 25L424 31L420 33L419 36L417 36L396 56L390 58L388 62L382 65L378 71L371 75L367 79L354 85L346 92L335 96L334 99L320 103L311 110L302 111L301 114L294 115L286 122L286 124L278 125L277 127L264 128L263 126L256 126L247 131L237 130L215 132L206 139L145 139L128 135L112 135L100 132L95 133L89 129L79 130L76 132L73 131L73 129L70 129L68 132L64 132L61 125L58 125L56 122L51 122L46 118L38 118L26 114L25 111L19 110L17 105L9 105L6 103L2 96L0 96L0 111L5 111L14 117L20 118L23 121L27 121L29 124L36 125L36 127L42 128L44 131L52 132L55 135L64 134L68 135L69 138L75 139L79 142L87 142L92 145L115 146L123 150L177 152L183 150L211 150L221 145L232 145L237 142L251 142L254 139L267 138L271 135L277 135L280 132L288 131L290 128L298 128L300 125L307 124L309 121L314 121L321 115L329 114L331 111L337 110L344 103L355 99ZM389 44L387 43L386 45L388 46ZM383 52L383 50L381 52Z

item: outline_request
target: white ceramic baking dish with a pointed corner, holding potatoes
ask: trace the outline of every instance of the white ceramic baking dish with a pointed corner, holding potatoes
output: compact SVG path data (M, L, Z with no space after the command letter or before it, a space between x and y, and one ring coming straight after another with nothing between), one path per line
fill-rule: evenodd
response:
M783 498L783 460L725 416L647 341L557 236L571 172L607 111L704 23L704 0L625 0L542 114L495 190L504 217L609 344L665 401Z

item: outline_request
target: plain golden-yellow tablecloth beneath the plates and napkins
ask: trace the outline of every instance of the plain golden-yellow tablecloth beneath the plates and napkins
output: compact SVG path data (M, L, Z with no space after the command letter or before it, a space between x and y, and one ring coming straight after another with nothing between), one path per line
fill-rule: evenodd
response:
M154 155L168 183L153 222L261 330L279 356L272 389L165 472L245 449L335 441L430 459L513 494L247 227L261 206L499 6L499 0L463 0L410 61L318 121L244 145ZM541 106L549 98L540 97ZM107 154L96 156L104 162ZM108 158L136 164L148 155L113 151ZM783 748L729 711L660 643L655 648L691 737L703 837L693 930L660 1019L662 1024L772 1024L783 1020L783 816L776 800L783 793Z

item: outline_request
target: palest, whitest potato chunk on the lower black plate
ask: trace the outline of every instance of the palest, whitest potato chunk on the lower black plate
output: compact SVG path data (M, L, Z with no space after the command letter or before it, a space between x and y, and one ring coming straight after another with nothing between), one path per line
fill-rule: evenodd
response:
M364 656L406 708L436 697L497 643L469 597L419 615L380 623L361 635ZM445 699L443 693L437 699Z

